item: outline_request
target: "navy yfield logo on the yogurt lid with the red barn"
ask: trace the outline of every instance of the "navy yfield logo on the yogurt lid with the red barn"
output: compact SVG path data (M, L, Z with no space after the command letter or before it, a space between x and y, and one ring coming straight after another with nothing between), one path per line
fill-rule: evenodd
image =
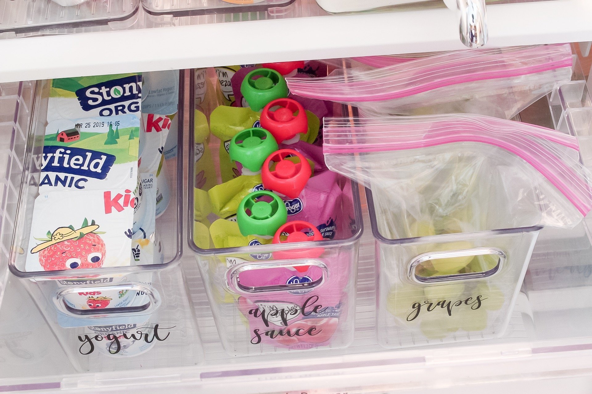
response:
M43 172L60 172L62 174L72 174L78 177L87 177L95 179L105 179L115 163L115 156L104 152L91 151L82 148L62 148L56 145L43 146L43 155L35 158L37 168ZM47 180L46 180L47 178ZM83 178L80 178L83 179ZM80 180L79 179L79 180ZM76 181L79 181L76 180ZM46 181L46 183L43 183ZM57 185L59 183L66 186L73 182L73 178L56 177L56 183L50 183L51 179L46 175L41 181L43 184ZM70 185L69 187L72 187Z

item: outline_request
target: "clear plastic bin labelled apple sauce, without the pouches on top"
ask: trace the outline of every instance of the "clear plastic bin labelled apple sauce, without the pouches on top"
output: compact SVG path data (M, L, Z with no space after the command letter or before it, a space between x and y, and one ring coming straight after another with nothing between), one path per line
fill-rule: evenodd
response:
M190 89L194 91L192 83ZM200 145L194 138L189 133L190 158ZM215 154L218 145L213 140L210 150ZM345 182L341 220L333 240L213 249L207 226L195 220L195 207L203 209L208 204L203 201L205 191L191 192L199 190L194 188L192 161L189 180L188 242L224 350L243 356L348 346L354 333L363 229L358 185ZM214 218L210 215L209 219Z

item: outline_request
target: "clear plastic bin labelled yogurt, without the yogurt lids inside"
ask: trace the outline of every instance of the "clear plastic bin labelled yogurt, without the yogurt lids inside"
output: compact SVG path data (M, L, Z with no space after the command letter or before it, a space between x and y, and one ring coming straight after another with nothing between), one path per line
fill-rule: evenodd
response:
M104 362L104 357L121 359L121 367L126 369L181 365L182 360L198 362L201 357L197 323L178 266L183 239L183 70L180 79L176 116L180 119L178 155L166 161L171 203L156 219L155 249L163 255L162 264L69 271L24 270L24 251L28 247L40 178L33 155L42 149L36 140L43 138L39 134L45 129L47 112L47 97L36 97L32 125L28 128L9 268L15 279L20 278L25 285L77 370L111 369L115 361ZM103 349L105 344L113 344L111 353L108 348ZM132 356L134 359L129 358Z

